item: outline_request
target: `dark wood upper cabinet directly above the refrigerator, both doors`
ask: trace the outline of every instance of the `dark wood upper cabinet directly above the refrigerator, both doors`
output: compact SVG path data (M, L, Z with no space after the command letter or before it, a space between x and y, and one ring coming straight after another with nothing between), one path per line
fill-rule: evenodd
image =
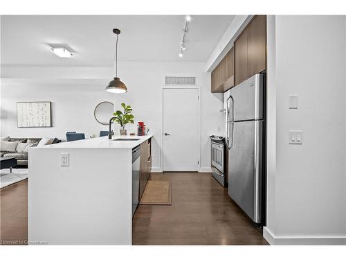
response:
M235 41L235 85L266 69L266 16L256 15Z

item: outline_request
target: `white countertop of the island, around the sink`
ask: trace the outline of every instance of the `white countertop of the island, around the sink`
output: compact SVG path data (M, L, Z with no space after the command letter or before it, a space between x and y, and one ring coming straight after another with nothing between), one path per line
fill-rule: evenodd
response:
M132 149L136 146L139 146L144 141L153 137L153 135L113 135L113 138L110 140L108 137L96 137L78 141L68 141L62 142L59 144L51 144L48 146L42 146L39 148L127 148ZM134 139L134 141L114 141L120 138ZM136 140L139 139L139 140Z

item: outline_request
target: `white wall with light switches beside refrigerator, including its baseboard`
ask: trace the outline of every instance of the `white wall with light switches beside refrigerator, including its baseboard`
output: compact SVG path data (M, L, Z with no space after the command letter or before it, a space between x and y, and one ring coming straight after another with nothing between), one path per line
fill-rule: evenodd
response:
M264 236L271 243L346 243L345 18L268 22L268 105L276 114L268 113L274 135ZM288 109L289 94L298 95L298 110ZM290 129L303 131L302 145L288 144Z

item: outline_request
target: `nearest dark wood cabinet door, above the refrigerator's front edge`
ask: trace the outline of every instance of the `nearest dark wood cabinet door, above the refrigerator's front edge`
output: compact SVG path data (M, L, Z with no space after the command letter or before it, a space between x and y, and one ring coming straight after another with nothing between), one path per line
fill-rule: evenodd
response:
M266 69L266 16L255 16L247 31L248 77L251 77Z

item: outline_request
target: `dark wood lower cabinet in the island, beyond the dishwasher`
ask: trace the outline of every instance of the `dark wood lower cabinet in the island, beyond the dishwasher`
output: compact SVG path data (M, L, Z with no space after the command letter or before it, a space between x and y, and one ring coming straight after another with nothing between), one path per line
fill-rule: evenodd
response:
M145 185L152 171L152 139L140 144L140 171L139 171L139 200L143 196Z

